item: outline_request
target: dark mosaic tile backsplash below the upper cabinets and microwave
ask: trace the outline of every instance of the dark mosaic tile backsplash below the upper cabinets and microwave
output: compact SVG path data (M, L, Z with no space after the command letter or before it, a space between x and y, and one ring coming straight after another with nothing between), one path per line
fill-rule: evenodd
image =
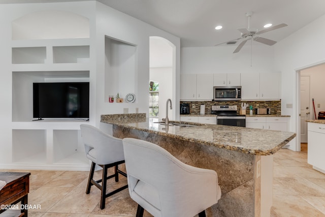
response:
M222 106L222 105L237 105L237 114L242 103L248 103L253 106L253 114L255 113L256 104L259 104L259 108L270 108L271 115L281 115L281 101L201 101L201 102L190 102L181 101L180 103L189 104L190 114L200 114L200 105L205 105L205 113L211 114L211 106ZM193 108L194 107L194 108ZM246 109L246 114L249 114L249 108Z

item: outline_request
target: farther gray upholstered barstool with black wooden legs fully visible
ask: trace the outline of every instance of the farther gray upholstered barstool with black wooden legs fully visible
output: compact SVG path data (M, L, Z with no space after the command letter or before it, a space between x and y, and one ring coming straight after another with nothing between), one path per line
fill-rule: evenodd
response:
M127 188L127 184L106 194L107 179L115 178L118 181L118 174L126 177L126 173L118 169L118 165L124 163L123 143L121 139L105 134L100 129L90 125L80 125L81 137L85 144L86 156L91 161L86 194L90 193L91 185L101 190L101 209L105 208L105 199ZM102 179L94 180L93 173L95 166L103 168ZM107 169L114 167L114 174L108 176ZM102 182L102 185L100 184Z

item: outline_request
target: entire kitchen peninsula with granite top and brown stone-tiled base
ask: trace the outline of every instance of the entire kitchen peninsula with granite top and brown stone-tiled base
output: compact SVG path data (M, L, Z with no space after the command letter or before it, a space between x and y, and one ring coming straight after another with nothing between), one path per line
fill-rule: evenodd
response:
M115 137L153 142L186 164L215 170L222 195L208 216L270 216L272 154L296 136L188 122L166 127L145 113L102 115L101 122L112 125Z

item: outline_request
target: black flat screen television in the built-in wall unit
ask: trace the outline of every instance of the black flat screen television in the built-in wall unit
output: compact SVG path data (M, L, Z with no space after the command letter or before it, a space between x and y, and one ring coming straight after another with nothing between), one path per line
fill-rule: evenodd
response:
M33 83L33 117L89 119L89 82Z

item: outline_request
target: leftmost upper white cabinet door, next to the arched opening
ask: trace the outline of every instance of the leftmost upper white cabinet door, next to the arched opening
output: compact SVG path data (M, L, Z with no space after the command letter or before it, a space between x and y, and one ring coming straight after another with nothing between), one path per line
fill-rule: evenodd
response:
M197 75L196 74L180 75L180 99L181 100L197 99Z

